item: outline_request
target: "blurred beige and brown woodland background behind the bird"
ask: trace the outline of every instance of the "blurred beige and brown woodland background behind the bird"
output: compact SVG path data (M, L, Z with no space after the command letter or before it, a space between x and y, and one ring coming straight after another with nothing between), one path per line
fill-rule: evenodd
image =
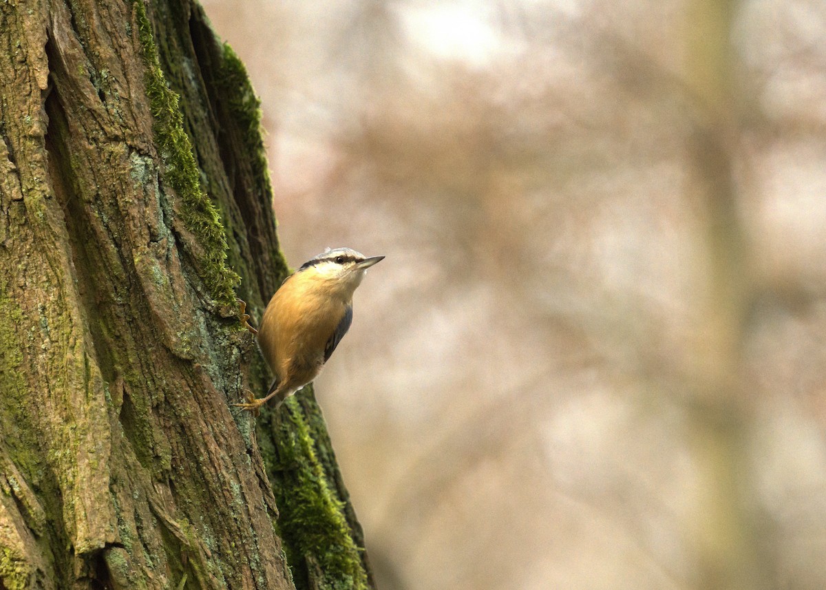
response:
M206 0L382 590L826 588L826 4Z

